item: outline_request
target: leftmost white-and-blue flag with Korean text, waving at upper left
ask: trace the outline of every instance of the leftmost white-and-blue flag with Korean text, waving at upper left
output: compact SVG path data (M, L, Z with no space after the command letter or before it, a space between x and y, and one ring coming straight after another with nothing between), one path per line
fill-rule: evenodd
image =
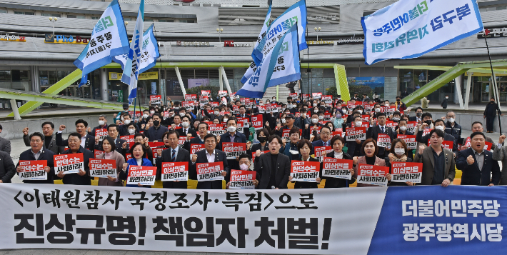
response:
M91 71L110 64L114 56L129 53L129 38L118 0L111 1L91 32L91 38L74 65L83 71L79 86L88 82Z

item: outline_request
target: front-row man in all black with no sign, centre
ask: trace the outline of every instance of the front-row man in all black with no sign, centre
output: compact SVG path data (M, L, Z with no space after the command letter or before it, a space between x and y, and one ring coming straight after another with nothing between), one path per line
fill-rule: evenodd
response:
M291 174L291 160L279 153L281 138L269 136L269 153L256 155L254 169L257 172L258 189L287 189L288 176Z

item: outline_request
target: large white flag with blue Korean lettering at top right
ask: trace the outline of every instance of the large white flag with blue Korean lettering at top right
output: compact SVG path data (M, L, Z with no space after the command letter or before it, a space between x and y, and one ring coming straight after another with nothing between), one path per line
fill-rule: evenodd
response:
M366 64L417 58L483 30L476 0L401 0L361 23Z

